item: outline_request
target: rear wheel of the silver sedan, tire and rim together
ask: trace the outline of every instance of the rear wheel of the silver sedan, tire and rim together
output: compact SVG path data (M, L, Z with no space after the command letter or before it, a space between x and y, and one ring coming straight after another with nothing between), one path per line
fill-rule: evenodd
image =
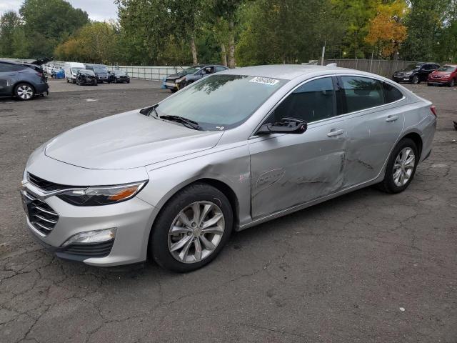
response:
M413 154L413 165L411 166L411 169L405 168L404 170L406 171L406 174L403 174L403 168L397 168L396 166L401 166L402 163L404 165L408 164L408 160L411 159L411 152ZM406 158L406 161L403 161L401 159L403 156L405 156L404 158ZM383 181L380 184L378 184L378 187L386 193L395 194L403 192L413 180L414 174L416 174L416 168L419 159L420 156L418 155L418 148L416 146L416 143L414 143L414 141L409 138L401 139L401 141L399 141L393 149L391 156L388 159L388 163L386 166L386 174L384 175ZM411 163L409 164L411 165ZM400 171L398 174L399 177L396 178L396 174L398 173L398 171ZM410 171L411 174L409 174ZM403 180L401 179L401 175L403 175Z

